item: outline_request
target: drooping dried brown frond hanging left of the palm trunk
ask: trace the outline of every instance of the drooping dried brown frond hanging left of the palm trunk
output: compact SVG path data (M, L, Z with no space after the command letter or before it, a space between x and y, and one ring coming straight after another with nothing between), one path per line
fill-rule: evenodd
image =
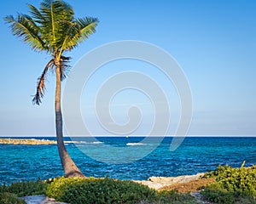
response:
M45 78L49 67L54 66L54 59L50 59L48 64L45 66L44 71L40 77L38 77L38 85L37 85L37 92L33 96L32 103L35 105L40 105L42 103L42 99L44 97L45 91Z

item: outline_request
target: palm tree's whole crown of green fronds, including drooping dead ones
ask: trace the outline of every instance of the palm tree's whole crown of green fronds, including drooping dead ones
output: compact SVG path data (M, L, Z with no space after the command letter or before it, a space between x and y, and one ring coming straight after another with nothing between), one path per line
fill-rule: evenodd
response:
M74 18L73 8L62 0L42 0L40 8L28 4L29 14L9 15L5 22L9 24L16 37L20 37L35 51L46 51L52 59L44 67L37 82L37 92L33 104L40 105L44 97L47 71L55 71L61 63L61 81L67 77L70 66L69 57L62 54L72 50L96 31L96 18ZM55 64L55 59L57 59Z

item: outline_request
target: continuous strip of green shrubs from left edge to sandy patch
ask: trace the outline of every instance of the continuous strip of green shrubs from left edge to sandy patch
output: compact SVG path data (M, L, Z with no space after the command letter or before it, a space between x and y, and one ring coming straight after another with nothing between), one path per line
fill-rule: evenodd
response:
M50 184L49 184L50 183ZM132 181L113 178L54 178L53 181L22 181L0 186L1 204L24 204L17 196L42 195L68 203L197 203L189 194L156 191Z

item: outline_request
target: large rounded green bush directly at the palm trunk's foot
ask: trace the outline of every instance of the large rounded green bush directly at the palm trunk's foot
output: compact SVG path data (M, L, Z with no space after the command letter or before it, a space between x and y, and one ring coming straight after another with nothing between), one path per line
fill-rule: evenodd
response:
M113 178L55 178L46 195L68 203L195 203L193 197L177 191L149 189L148 186ZM194 202L193 202L194 201Z

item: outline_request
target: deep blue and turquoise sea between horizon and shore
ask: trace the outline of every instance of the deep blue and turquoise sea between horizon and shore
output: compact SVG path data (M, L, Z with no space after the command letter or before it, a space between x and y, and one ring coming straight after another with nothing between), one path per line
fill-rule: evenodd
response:
M49 137L35 139L55 140ZM187 137L174 151L170 151L171 137L165 138L160 145L155 146L154 140L151 144L143 144L142 137L101 137L98 138L100 142L87 142L86 138L73 140L82 142L67 144L67 151L88 177L108 175L110 178L141 180L151 176L171 177L204 173L225 164L241 167L244 160L246 166L256 164L256 137ZM128 163L124 160L123 163L115 164L96 161L79 149L85 148L96 156L102 154L111 161L113 154L108 155L108 149L102 149L106 144L114 148L136 145L136 154L140 154L140 150L147 149L150 145L154 146L154 150L140 160ZM118 152L114 157L123 160L124 155ZM0 144L0 184L9 184L21 179L54 178L62 174L56 144Z

